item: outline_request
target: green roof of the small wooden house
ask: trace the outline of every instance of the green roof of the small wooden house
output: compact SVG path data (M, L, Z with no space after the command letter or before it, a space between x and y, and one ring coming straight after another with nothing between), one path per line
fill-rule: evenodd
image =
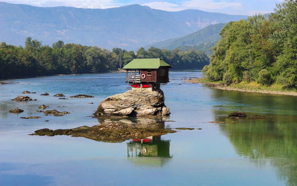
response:
M157 69L160 66L167 66L171 68L171 65L161 60L160 58L150 59L134 59L123 67L123 69Z

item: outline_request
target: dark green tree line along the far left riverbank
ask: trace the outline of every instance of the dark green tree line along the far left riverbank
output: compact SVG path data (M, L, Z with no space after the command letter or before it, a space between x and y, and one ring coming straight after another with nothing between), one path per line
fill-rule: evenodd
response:
M63 41L51 47L43 46L41 41L28 37L25 47L0 44L0 79L106 72L122 68L134 58L161 58L175 69L202 68L209 64L206 54L194 49L169 51L151 47L146 51L141 47L135 54L120 48L110 51Z

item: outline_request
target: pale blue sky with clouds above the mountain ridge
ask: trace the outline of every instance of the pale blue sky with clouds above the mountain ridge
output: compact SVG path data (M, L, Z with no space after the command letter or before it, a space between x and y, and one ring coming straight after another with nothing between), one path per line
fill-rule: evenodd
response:
M1 0L0 0L1 1ZM77 8L113 8L130 4L140 4L154 9L180 11L198 9L206 12L219 12L233 15L254 15L271 13L275 3L283 0L4 0L13 4L29 4L37 7L77 7Z

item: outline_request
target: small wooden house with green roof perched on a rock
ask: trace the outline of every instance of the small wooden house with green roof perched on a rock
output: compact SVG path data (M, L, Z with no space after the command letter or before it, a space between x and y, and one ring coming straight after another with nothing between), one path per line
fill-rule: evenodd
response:
M160 83L168 83L171 65L160 58L134 59L123 67L126 69L126 82L133 88L149 91L160 89Z

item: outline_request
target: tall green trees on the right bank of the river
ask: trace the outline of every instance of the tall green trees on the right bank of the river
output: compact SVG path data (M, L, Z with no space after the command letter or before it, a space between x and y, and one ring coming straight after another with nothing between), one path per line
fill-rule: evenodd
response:
M203 68L206 78L296 88L297 1L285 0L274 11L268 19L259 14L225 25Z

